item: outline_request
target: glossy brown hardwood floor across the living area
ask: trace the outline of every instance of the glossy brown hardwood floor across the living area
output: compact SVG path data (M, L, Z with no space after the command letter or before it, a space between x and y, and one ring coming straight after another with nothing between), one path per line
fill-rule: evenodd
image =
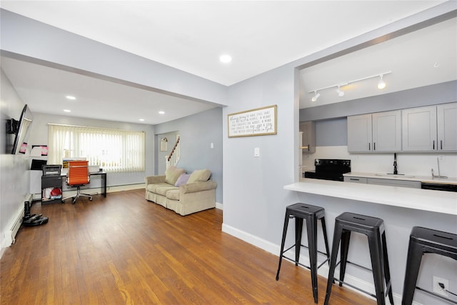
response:
M314 304L307 269L221 231L222 211L180 216L144 190L34 203L1 258L1 304ZM318 279L323 304L326 279ZM331 304L376 304L334 285Z

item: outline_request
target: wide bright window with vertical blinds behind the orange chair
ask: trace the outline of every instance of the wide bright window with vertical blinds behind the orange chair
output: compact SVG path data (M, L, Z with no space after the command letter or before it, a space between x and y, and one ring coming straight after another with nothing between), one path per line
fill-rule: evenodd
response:
M144 131L49 124L49 164L85 157L107 172L145 171Z

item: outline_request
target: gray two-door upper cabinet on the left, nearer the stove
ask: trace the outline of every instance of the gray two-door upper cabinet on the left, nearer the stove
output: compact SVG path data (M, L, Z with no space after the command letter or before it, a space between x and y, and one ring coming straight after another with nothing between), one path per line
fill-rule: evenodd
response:
M348 151L401 151L401 111L348 116Z

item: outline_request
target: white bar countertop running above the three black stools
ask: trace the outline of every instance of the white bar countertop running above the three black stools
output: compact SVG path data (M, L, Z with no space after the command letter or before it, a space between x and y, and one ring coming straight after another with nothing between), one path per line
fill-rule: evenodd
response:
M355 174L357 173L352 174L356 176ZM284 186L284 189L343 199L367 201L374 204L457 215L457 192L452 191L410 189L400 186L356 184L306 178L302 179L301 182L288 184Z

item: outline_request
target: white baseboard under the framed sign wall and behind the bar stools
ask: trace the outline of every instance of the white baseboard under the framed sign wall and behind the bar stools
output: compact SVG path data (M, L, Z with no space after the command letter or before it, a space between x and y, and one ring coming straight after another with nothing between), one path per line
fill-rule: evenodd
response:
M271 254L274 254L278 256L279 258L279 251L281 251L281 246L277 244L273 244L270 241L266 241L265 239L261 239L258 236L254 236L252 234L248 234L245 231L241 231L239 229L233 228L233 226L229 226L227 224L222 224L222 231L230 234L232 236L235 236L238 239L241 239L243 241L246 241L248 244L252 244L253 246L256 246L260 249L263 249L264 251L267 251ZM301 251L300 254L300 263L305 264L306 266L309 266L309 257L306 255L303 255L303 252L306 254L306 251ZM293 258L295 256L294 251L287 251L286 256ZM320 257L321 254L318 254L318 262L323 261L323 257ZM284 262L288 262L290 264L293 264L291 261L283 260ZM274 271L276 272L277 266L273 266ZM303 268L303 267L301 267ZM318 269L318 275L323 276L324 278L328 278L328 265L324 264L321 266L321 268ZM339 276L339 269L335 271L335 277L338 278ZM356 276L351 276L351 274L346 274L344 277L344 281L347 282L348 284L351 284L353 286L356 286L360 289L363 289L364 291L368 291L371 294L375 294L375 289L374 285L371 284L368 281L365 281L363 279L358 279ZM367 294L363 294L363 292L358 291L357 289L353 289L350 286L345 286L348 289L351 289L352 291L357 292L358 294L361 294L363 296L368 296ZM374 299L371 296L368 296L371 299ZM395 304L401 304L401 295L399 294L393 294L393 301ZM389 301L386 301L386 304L390 304ZM422 305L416 302L413 302L414 305Z

